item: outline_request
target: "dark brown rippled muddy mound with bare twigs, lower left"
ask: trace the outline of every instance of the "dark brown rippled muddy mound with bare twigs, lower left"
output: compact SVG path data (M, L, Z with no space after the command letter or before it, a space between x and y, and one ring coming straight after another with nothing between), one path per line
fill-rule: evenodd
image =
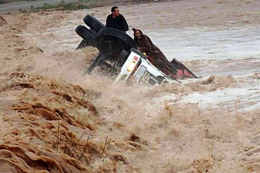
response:
M0 91L1 171L107 172L118 169L116 162L128 165L115 149L107 154L114 137L95 140L106 123L89 99L98 93L19 72L1 74Z

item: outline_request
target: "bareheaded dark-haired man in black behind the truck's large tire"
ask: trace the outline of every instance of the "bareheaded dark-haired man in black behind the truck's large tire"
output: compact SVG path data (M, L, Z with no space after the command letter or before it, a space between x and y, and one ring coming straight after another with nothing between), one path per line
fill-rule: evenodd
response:
M112 14L108 15L106 18L106 27L112 27L123 32L128 31L128 24L124 16L119 14L119 8L113 6L111 8L111 13Z

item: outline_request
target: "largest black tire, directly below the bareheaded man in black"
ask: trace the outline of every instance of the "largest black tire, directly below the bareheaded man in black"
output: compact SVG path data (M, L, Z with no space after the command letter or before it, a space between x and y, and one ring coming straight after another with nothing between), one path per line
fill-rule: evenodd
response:
M115 28L105 27L98 32L95 39L95 45L99 51L102 51L102 43L105 41L117 42L122 46L122 49L125 49L126 51L130 51L131 48L137 49L137 44L132 37ZM120 51L122 49L120 48Z

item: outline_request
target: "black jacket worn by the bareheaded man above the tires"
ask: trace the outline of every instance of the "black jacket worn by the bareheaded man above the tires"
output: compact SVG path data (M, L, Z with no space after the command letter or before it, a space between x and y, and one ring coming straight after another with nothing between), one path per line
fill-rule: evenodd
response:
M117 16L113 19L113 15L110 14L106 18L106 27L112 27L120 31L128 31L128 24L123 15Z

